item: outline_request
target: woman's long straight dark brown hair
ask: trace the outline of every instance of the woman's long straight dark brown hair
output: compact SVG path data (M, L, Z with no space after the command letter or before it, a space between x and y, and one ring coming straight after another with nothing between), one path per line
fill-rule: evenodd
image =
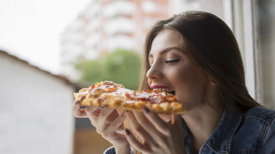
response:
M221 110L226 107L244 113L261 106L248 94L239 46L232 31L219 17L201 11L186 11L159 20L150 28L144 42L139 90L150 89L146 77L148 54L154 38L163 29L178 31L182 35L182 49L216 82Z

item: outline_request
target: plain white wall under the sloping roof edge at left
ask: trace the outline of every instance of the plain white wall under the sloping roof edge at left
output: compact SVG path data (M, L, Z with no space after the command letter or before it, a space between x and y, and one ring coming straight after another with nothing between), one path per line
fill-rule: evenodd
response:
M0 53L0 153L72 153L73 92L63 80Z

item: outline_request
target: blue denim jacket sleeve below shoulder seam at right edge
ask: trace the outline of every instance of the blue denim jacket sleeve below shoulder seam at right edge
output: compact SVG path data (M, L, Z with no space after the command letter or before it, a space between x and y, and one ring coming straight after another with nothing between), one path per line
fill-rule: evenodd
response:
M273 119L270 125L268 126L259 154L275 153L274 143L275 143L275 116L273 116Z

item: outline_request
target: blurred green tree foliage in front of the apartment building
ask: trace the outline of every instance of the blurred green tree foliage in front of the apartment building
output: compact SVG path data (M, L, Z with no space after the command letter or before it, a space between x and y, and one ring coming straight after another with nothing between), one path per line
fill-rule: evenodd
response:
M113 81L125 88L136 89L140 77L141 57L139 54L117 50L98 60L80 62L83 80L89 82Z

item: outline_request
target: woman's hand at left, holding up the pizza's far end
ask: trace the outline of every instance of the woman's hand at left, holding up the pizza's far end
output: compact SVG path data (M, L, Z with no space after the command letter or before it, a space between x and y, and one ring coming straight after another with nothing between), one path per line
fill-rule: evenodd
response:
M129 142L125 138L123 121L126 118L125 110L120 114L114 108L99 108L98 106L86 106L80 109L79 100L72 105L74 117L89 118L92 125L97 128L97 133L112 143L116 153L131 152Z

